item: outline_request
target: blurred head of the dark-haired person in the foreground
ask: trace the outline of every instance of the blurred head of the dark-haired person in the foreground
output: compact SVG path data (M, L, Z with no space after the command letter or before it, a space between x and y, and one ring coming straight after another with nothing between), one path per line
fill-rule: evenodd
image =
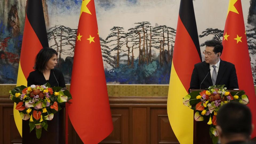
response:
M229 102L218 110L217 132L221 144L249 142L253 125L251 111L239 102Z

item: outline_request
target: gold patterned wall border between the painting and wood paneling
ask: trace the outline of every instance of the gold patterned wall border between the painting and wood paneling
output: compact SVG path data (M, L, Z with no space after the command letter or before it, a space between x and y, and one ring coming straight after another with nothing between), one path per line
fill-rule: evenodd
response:
M15 86L0 85L0 97L7 97ZM167 97L168 88L168 85L107 85L109 97Z

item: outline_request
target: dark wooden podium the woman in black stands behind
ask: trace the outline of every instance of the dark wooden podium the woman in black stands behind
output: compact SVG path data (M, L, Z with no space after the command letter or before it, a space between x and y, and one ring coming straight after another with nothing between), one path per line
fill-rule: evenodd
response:
M54 117L51 121L47 121L47 124L48 131L42 128L41 138L37 139L35 128L31 131L31 133L29 133L29 120L22 120L22 143L65 143L65 105L60 111L54 114Z

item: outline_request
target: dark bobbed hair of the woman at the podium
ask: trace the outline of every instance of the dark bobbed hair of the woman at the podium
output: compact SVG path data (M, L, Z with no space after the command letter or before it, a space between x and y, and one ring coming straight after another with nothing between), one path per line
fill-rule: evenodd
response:
M49 47L42 48L35 58L34 70L43 72L46 68L47 62L54 54L58 55L56 50Z

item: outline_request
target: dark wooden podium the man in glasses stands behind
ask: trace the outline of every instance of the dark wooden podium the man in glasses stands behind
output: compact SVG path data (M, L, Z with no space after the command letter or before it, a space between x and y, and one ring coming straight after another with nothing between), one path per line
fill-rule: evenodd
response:
M198 89L190 89L190 92L192 91L198 91ZM203 91L203 90L201 90ZM241 90L229 90L229 92L232 91L241 91ZM195 111L194 111L195 115ZM193 117L194 119L194 117ZM193 143L194 144L211 144L213 143L212 139L210 138L210 125L207 125L208 120L204 121L195 121L194 119L194 130L193 130Z

